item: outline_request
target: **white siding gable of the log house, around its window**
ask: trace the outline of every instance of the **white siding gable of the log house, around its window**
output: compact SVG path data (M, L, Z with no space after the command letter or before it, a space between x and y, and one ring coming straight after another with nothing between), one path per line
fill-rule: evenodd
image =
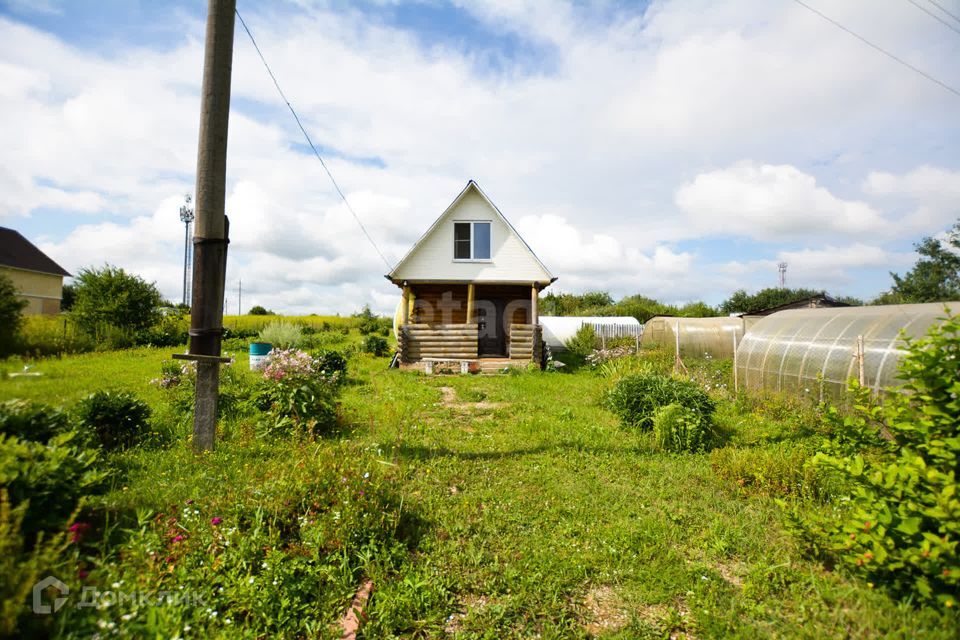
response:
M455 261L453 224L489 221L490 260ZM472 180L388 276L394 282L461 281L549 284L553 276Z

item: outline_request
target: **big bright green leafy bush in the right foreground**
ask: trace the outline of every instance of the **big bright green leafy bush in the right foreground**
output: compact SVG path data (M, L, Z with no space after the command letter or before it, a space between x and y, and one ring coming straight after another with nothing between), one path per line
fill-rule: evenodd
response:
M954 609L960 591L960 316L906 341L883 404L853 385L815 460L847 487L841 515L795 514L815 552L895 595Z

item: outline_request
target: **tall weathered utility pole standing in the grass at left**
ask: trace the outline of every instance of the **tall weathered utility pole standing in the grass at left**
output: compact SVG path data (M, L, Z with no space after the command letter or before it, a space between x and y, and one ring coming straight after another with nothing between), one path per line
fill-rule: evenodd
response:
M227 269L229 222L224 215L227 181L227 131L233 25L236 0L209 0L207 40L200 102L197 150L196 221L194 223L193 306L190 353L197 362L193 448L211 451L216 442L217 396L220 393L220 339Z

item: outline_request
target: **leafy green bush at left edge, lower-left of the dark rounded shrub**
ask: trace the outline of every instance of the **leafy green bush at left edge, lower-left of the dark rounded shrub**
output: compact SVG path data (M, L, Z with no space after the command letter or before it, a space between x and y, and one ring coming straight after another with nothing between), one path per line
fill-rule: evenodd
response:
M98 455L76 431L45 443L0 435L0 488L12 505L28 503L24 533L61 530L80 499L103 488Z

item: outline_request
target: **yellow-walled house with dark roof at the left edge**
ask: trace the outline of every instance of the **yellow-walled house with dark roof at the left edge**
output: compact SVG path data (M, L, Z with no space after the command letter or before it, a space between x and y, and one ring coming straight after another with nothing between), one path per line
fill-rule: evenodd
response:
M28 315L57 315L63 279L70 274L13 229L0 227L0 274L8 276L27 301Z

